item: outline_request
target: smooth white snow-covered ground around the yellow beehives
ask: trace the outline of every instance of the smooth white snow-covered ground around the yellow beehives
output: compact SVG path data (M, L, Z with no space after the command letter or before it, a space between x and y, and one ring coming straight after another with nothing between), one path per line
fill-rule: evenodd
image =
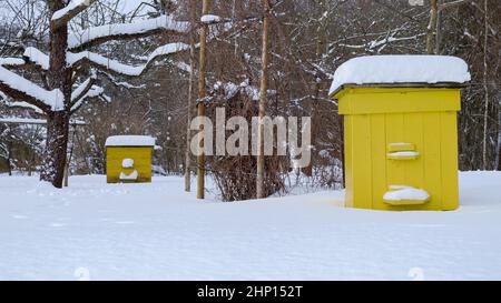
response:
M0 176L1 280L501 280L501 173L461 173L454 212L343 209L342 192L222 203L75 176Z

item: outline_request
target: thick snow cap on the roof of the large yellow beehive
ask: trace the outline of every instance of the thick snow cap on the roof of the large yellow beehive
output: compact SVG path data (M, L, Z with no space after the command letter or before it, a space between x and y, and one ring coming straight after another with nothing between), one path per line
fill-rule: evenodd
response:
M336 70L328 94L345 84L464 83L468 64L451 55L387 54L351 59Z

